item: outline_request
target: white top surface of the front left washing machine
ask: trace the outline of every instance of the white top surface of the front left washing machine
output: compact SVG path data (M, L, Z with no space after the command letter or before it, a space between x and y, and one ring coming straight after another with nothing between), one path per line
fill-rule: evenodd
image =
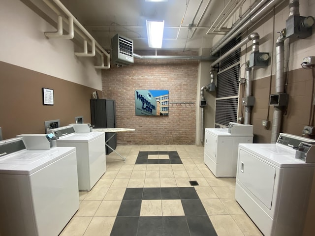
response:
M0 158L0 174L31 175L75 151L75 148L51 148L13 152Z

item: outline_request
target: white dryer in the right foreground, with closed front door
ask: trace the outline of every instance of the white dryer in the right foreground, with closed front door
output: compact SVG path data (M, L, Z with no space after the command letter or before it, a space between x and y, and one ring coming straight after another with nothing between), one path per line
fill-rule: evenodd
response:
M301 142L315 140L281 133L276 144L239 145L235 199L264 236L302 235L315 155L308 161L295 157L315 146L304 152L292 148Z

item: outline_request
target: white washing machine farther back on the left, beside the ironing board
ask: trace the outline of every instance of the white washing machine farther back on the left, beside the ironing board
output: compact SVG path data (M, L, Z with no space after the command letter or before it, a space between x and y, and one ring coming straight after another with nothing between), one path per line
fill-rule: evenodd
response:
M90 191L106 171L104 132L90 132L89 124L68 125L47 132L58 138L57 147L76 148L79 190Z

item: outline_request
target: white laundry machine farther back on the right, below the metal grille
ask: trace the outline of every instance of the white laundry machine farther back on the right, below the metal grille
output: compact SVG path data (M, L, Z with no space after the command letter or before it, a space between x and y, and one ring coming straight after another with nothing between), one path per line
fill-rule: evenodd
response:
M225 129L205 129L204 162L215 177L236 177L240 143L252 143L252 125L230 122Z

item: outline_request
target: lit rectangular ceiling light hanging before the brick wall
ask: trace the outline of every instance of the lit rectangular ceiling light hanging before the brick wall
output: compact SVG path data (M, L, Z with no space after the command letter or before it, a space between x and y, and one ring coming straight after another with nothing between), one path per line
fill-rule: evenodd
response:
M162 48L164 21L146 21L149 48Z

